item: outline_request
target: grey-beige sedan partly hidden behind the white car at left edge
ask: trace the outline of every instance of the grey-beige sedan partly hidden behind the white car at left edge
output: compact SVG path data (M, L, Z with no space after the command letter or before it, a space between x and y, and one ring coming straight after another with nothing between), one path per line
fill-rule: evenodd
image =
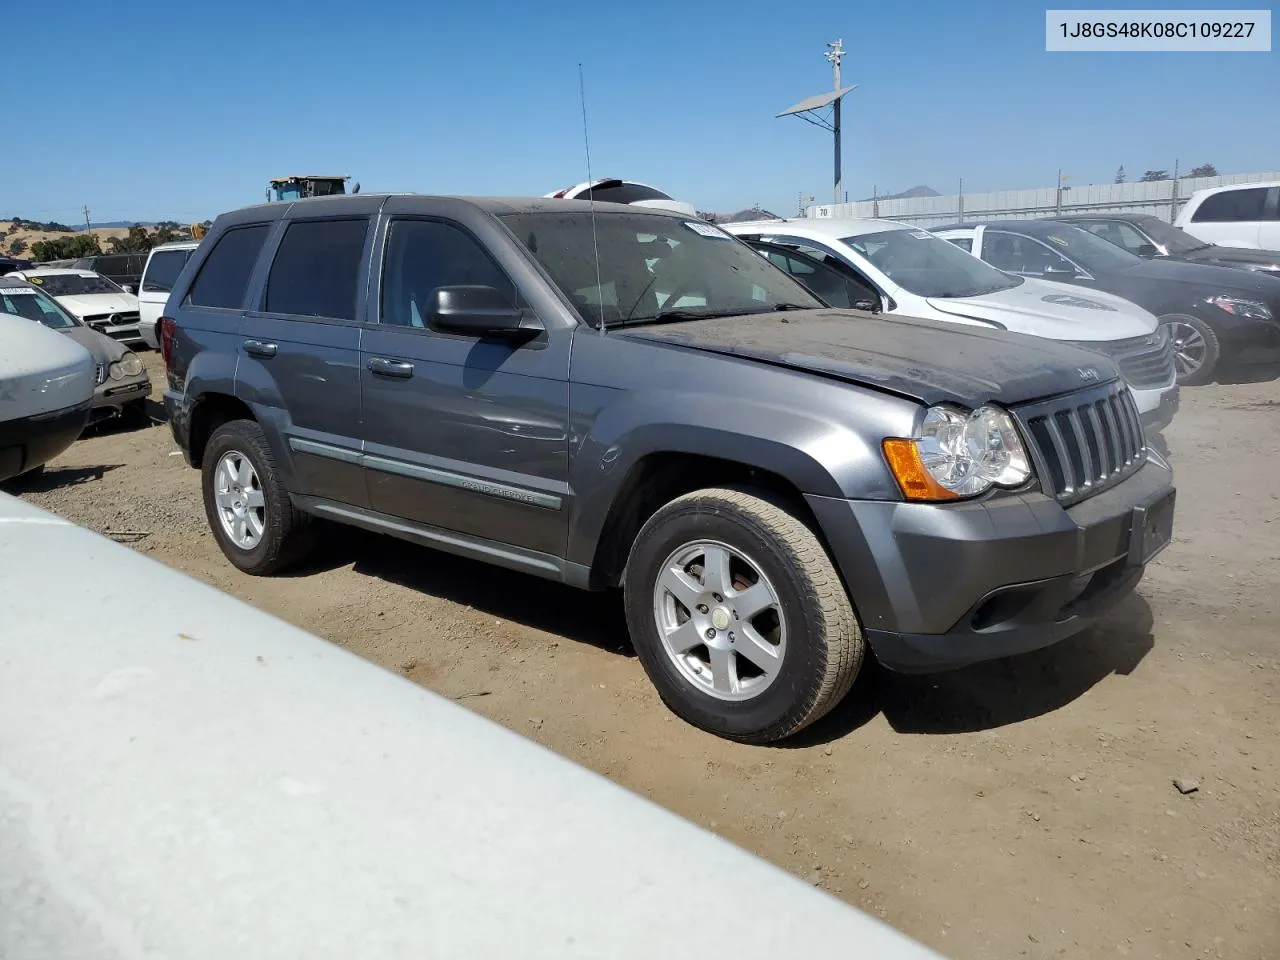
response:
M90 329L52 297L14 276L0 276L0 314L23 316L65 334L93 355L93 403L90 422L131 415L147 419L151 378L137 353Z

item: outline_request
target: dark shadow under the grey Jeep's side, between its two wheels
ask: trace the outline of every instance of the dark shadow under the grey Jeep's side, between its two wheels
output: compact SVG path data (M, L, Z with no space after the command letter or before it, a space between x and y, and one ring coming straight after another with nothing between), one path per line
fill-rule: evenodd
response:
M381 534L325 525L314 561L282 576L310 576L352 564L357 573L399 584L486 614L634 657L617 590L577 590Z

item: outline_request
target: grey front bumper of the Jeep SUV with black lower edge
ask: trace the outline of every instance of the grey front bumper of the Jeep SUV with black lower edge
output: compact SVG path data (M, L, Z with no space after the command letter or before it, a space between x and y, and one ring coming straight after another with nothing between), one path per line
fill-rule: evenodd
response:
M1041 493L951 504L805 499L868 643L901 672L1078 634L1137 586L1172 535L1172 474L1156 460L1069 508Z

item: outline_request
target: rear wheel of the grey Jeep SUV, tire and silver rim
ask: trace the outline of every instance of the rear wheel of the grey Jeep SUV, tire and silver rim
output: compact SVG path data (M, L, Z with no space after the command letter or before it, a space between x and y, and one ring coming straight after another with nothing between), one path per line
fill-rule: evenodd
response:
M205 516L227 559L265 576L307 550L311 518L289 499L261 426L252 420L223 424L209 438L202 462Z

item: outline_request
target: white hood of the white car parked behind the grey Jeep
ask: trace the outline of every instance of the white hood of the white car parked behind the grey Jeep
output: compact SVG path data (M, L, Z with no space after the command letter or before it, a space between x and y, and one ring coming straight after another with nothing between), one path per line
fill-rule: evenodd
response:
M1102 291L1027 278L982 297L929 297L934 310L957 317L993 320L1015 333L1051 340L1119 340L1156 329L1156 317Z

